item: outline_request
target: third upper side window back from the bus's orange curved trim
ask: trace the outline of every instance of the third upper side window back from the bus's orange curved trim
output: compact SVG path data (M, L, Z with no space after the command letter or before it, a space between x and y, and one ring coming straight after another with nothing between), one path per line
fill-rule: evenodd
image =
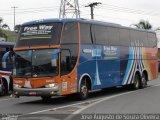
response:
M119 45L119 29L113 27L107 27L108 40L110 45Z

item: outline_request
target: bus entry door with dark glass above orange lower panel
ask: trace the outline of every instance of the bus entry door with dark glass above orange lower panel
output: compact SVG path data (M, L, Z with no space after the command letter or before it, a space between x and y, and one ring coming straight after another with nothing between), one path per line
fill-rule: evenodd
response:
M71 55L70 49L61 49L61 92L70 94L77 92L77 73L74 70L76 58Z

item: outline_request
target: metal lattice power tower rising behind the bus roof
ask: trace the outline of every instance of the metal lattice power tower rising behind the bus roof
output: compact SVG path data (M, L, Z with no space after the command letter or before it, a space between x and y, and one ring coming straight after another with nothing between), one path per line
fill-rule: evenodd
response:
M59 18L80 18L78 0L61 0Z

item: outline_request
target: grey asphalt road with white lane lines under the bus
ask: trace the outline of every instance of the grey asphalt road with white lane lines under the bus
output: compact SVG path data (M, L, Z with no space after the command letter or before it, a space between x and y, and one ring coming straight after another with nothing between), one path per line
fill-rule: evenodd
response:
M0 114L3 117L14 114L23 120L92 120L93 116L82 115L126 113L160 113L160 80L150 81L145 89L136 91L123 88L99 90L85 101L74 97L53 97L48 102L39 97L0 97Z

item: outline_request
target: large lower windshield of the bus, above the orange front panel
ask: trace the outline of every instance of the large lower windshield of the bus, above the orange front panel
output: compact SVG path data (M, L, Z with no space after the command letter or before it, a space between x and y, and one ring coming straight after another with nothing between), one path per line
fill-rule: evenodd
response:
M48 77L58 74L52 65L55 49L17 51L14 55L13 75L16 77Z

